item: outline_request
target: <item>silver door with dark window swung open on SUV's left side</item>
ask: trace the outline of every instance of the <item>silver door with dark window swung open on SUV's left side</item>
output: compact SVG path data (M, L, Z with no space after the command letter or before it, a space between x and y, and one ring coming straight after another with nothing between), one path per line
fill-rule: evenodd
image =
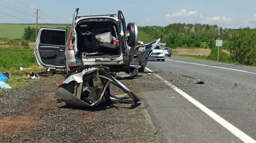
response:
M65 50L67 30L57 28L40 28L34 54L39 66L64 68L66 66Z

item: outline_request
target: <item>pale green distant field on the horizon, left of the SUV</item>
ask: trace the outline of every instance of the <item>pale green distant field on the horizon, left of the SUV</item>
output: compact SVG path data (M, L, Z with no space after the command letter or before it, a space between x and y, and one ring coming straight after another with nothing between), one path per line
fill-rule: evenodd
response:
M69 24L39 24L37 27L59 27ZM35 24L0 24L0 38L21 39L24 28L35 27Z

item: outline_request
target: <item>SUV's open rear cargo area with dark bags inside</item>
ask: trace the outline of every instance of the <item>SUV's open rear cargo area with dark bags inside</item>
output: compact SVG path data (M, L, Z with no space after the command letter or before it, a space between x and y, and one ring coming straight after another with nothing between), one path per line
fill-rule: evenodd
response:
M119 26L111 18L82 19L77 23L77 58L118 57Z

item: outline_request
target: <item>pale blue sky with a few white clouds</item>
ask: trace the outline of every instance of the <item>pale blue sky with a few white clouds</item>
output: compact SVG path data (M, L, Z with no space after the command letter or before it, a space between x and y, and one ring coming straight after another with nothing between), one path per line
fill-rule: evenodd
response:
M78 15L117 14L126 24L167 26L201 23L222 28L256 28L256 0L0 0L0 23L72 23Z

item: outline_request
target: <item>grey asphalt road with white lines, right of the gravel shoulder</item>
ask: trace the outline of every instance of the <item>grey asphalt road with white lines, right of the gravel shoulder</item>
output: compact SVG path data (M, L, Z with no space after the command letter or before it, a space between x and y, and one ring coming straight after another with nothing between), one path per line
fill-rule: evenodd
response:
M256 142L256 68L175 57L147 68L166 82L143 94L160 142Z

